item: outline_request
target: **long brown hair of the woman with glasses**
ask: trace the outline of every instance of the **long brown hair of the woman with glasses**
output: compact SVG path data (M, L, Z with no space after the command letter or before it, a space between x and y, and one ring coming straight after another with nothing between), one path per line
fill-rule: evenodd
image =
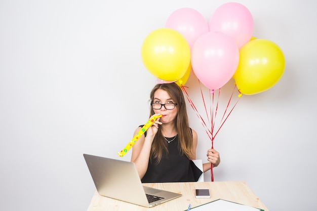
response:
M173 101L177 103L176 106L178 106L178 112L175 120L175 128L178 134L178 147L181 153L185 154L190 159L192 158L192 132L189 128L186 103L182 90L176 83L157 84L150 93L151 103L154 100L154 93L159 89L166 91ZM153 114L154 111L151 107L149 116L152 116ZM162 153L164 152L168 153L167 142L164 140L162 131L159 127L159 131L157 131L151 146L150 159L155 160L155 163L159 163L162 158Z

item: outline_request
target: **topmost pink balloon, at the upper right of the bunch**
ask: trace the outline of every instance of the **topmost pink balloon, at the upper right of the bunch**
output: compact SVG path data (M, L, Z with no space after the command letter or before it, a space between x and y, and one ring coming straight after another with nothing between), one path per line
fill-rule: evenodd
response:
M209 31L219 31L231 36L239 48L251 39L253 27L250 11L239 3L221 5L209 21Z

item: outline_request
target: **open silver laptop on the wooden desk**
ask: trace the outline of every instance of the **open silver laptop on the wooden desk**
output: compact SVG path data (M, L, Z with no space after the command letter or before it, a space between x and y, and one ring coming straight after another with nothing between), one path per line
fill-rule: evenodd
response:
M99 195L152 207L182 196L143 186L133 162L84 154Z

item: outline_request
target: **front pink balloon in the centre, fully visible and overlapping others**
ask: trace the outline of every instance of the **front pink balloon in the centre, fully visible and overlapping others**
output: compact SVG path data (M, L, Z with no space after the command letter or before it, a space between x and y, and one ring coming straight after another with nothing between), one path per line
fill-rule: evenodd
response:
M195 41L191 50L191 66L207 88L217 90L231 79L239 57L239 48L230 36L211 31Z

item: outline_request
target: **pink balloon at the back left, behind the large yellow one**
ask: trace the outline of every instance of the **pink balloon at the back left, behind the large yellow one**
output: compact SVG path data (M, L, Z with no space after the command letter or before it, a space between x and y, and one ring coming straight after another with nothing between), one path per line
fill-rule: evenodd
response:
M165 27L180 32L190 48L198 37L209 31L208 22L202 14L191 8L174 11L167 19Z

